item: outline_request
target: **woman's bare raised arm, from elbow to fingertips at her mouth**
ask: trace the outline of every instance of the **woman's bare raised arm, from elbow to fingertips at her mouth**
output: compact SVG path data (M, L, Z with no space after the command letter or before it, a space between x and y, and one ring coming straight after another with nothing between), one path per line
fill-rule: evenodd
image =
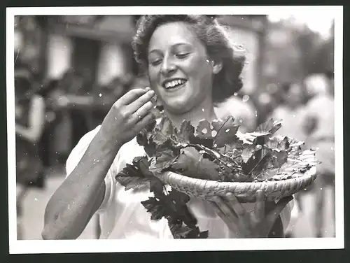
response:
M75 169L48 201L43 239L80 236L104 200L104 178L120 147L153 120L153 96L153 91L137 89L113 104ZM144 117L139 118L136 111Z

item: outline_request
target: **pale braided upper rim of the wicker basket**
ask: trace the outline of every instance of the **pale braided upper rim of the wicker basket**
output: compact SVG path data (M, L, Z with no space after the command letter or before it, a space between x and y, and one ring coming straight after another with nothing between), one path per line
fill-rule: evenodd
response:
M304 173L296 173L297 176L293 178L288 178L285 180L274 180L274 181L262 181L262 182L219 182L215 180L205 180L199 178L192 178L189 176L183 176L179 173L174 173L172 171L167 171L162 173L160 176L167 178L167 183L180 183L183 178L186 178L186 185L202 185L203 187L210 186L220 186L220 187L232 187L235 186L238 189L244 189L248 185L260 185L260 187L267 187L268 185L288 185L289 183L295 183L298 180L304 180L305 178L310 178L316 176L316 166L312 166L309 170ZM183 181L181 182L183 184Z

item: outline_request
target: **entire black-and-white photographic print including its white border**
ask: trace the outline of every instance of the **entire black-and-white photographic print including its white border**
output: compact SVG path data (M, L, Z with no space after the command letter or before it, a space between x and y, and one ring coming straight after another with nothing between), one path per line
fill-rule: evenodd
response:
M342 15L7 8L10 253L344 248Z

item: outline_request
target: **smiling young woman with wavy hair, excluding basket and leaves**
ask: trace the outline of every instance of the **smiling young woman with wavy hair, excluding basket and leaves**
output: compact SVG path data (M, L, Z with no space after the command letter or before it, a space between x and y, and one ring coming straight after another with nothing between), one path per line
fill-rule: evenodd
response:
M193 125L214 120L214 103L242 86L244 59L235 56L225 30L206 15L145 15L133 48L152 90L127 92L102 125L81 138L67 160L66 180L46 207L43 239L78 238L94 213L102 218L102 239L172 239L167 220L151 220L140 203L149 192L125 191L115 176L134 157L145 155L134 137L153 120L155 94L175 126L183 120ZM283 236L292 197L267 207L260 192L248 210L232 194L228 198L218 198L215 206L199 199L188 204L209 238Z

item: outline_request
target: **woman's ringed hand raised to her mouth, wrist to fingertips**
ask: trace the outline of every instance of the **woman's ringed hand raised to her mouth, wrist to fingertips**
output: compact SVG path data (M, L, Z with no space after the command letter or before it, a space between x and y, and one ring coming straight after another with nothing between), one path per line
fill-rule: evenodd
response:
M154 121L151 99L155 92L151 88L130 90L113 104L104 118L100 132L104 138L118 145L132 140L141 129Z

